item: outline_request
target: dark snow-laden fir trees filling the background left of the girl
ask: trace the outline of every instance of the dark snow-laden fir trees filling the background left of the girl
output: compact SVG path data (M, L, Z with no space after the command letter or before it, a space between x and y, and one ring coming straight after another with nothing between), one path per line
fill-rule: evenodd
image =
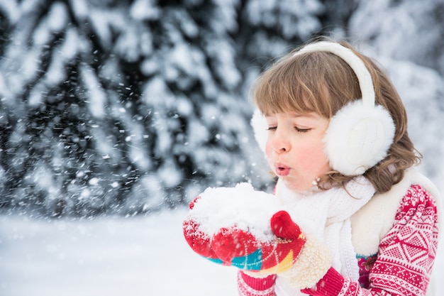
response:
M320 11L314 0L1 1L1 206L135 214L207 186L266 186L249 126L257 57L309 38Z

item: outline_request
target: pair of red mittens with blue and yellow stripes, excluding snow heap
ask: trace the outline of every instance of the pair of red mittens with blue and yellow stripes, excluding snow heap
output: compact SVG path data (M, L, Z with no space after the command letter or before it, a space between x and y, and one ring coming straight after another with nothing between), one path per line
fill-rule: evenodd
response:
M189 208L193 209L199 199L196 197ZM209 235L194 219L186 219L183 224L184 237L189 246L210 261L243 270L279 273L294 264L304 246L305 237L284 211L272 216L270 228L274 238L263 241L237 226L221 228Z

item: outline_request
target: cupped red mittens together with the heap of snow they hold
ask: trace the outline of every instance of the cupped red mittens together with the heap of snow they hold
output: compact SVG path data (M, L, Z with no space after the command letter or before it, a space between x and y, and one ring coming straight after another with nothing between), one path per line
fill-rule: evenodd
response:
M190 203L184 236L204 258L265 274L290 268L306 241L272 194L248 183L208 188Z

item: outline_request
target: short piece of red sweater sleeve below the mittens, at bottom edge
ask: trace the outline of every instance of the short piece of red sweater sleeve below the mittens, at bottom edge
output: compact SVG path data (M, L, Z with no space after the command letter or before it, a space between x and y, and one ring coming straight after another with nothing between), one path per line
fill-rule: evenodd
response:
M242 270L238 271L238 291L240 296L276 296L274 283L276 275L254 278Z

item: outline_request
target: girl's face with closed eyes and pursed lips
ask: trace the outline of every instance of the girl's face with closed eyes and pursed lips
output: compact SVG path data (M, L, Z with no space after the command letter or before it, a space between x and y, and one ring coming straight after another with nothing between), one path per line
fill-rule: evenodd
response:
M328 119L314 112L267 116L268 164L290 190L313 187L313 181L331 170L323 152Z

